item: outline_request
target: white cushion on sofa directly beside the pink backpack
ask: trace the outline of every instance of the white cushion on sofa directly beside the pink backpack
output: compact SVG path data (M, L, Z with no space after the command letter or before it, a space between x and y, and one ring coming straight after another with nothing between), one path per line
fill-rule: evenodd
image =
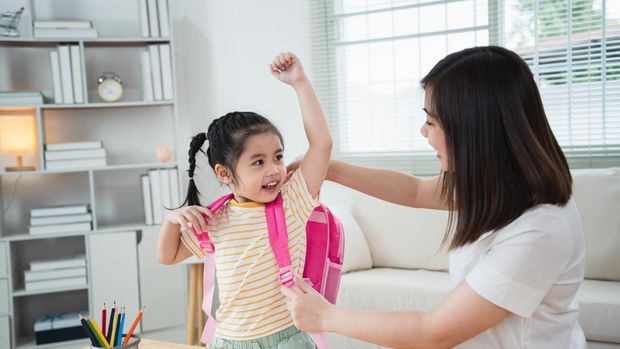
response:
M353 270L366 270L372 268L372 258L368 249L366 237L359 225L351 215L351 211L342 206L329 208L338 217L344 229L344 262L342 272L347 273Z

